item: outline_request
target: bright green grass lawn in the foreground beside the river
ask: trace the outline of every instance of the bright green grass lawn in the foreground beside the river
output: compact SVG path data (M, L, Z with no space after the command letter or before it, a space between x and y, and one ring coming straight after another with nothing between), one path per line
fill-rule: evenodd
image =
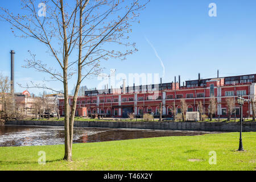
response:
M256 133L243 133L246 152L237 152L239 133L161 137L74 144L73 162L64 146L0 147L0 170L252 170L256 169ZM46 165L38 164L45 151ZM217 164L209 164L216 151ZM190 162L189 159L199 159Z

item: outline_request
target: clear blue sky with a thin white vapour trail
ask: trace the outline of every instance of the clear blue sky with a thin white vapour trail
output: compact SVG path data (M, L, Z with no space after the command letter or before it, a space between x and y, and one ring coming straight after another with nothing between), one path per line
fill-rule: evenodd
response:
M217 17L208 15L209 3L216 3ZM0 1L1 7L20 12L20 2ZM220 76L256 73L256 1L238 0L151 0L146 9L141 12L140 24L133 25L131 40L137 43L138 52L126 60L109 60L102 62L109 74L110 69L117 73L159 73L163 68L163 82L174 81L174 76L181 75L181 81L193 80L197 74L201 77L216 77L217 69ZM43 73L33 69L22 68L24 60L29 57L28 50L35 53L40 60L48 63L46 48L32 39L15 38L10 31L10 25L0 22L0 72L10 75L10 50L15 55L15 82L26 85L27 82L40 82ZM157 52L147 42L152 44ZM95 88L97 78L84 80L82 85ZM69 82L72 90L75 79ZM63 90L58 82L48 85L57 90ZM15 87L16 92L23 88ZM42 90L30 89L32 93Z

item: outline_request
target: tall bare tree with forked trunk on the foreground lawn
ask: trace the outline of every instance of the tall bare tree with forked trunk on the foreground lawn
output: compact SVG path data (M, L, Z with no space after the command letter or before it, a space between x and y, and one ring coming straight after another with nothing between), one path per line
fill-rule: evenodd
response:
M100 61L110 58L125 59L137 51L135 43L129 42L131 22L137 21L138 11L146 3L139 0L76 0L45 1L46 16L40 17L36 11L35 1L22 0L24 14L14 15L3 9L1 18L18 30L23 38L32 38L44 44L49 54L56 60L59 68L50 67L43 61L36 60L30 52L26 68L48 73L46 81L60 81L64 88L64 127L65 155L64 160L72 160L73 123L76 103L81 82L88 76L101 72ZM117 44L119 49L111 49L110 44ZM128 49L127 47L131 47ZM77 59L71 60L72 55ZM72 107L69 113L68 80L77 75L76 89L72 96ZM49 88L46 84L32 83L27 88Z

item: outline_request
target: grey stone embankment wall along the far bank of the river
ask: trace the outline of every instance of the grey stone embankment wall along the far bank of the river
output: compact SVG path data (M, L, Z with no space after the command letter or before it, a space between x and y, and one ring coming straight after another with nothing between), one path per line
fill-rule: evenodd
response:
M9 121L5 125L64 126L64 121ZM109 127L122 129L240 131L240 122L102 122L75 121L75 127ZM256 131L256 122L243 123L243 131Z

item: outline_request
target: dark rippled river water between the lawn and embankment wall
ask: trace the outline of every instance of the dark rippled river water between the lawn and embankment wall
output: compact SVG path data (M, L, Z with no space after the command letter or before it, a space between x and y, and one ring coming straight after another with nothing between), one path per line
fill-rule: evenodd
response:
M202 135L205 131L74 128L74 143L138 138ZM0 125L0 147L64 144L64 127Z

